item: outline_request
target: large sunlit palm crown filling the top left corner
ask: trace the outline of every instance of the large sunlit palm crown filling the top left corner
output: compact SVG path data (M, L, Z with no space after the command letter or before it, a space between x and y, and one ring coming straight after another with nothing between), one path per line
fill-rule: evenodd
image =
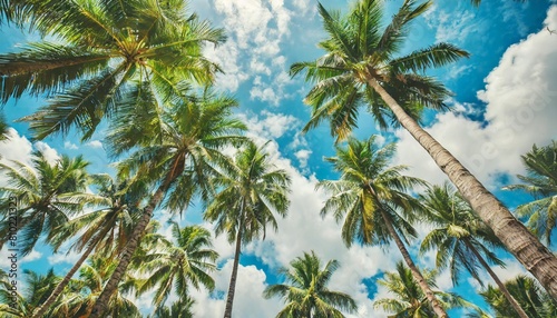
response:
M0 101L47 93L51 99L30 121L36 138L71 127L90 138L104 117L118 109L129 87L148 82L146 93L179 96L176 81L208 83L218 67L202 56L205 43L224 41L186 0L6 0L4 18L30 26L57 42L28 43L0 54Z

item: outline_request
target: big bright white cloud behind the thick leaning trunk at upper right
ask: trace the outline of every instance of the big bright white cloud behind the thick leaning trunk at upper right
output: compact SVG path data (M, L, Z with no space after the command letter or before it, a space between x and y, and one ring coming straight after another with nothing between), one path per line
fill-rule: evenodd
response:
M557 7L545 27L557 28ZM557 118L557 41L545 28L507 49L499 66L485 79L478 97L486 102L486 125L459 113L439 113L427 130L488 187L500 187L500 173L524 173L520 155L534 143L555 139ZM411 173L431 182L444 175L405 131L398 131L397 162L412 166Z

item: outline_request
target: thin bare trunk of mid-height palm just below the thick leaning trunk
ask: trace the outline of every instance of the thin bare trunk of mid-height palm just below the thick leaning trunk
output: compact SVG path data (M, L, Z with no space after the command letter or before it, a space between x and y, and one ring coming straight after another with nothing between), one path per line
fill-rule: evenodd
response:
M443 307L441 304L439 304L439 300L437 299L436 295L433 294L433 290L429 287L428 282L421 275L420 270L416 266L416 264L412 260L412 257L408 252L407 247L404 246L404 242L400 239L399 233L394 230L394 227L391 223L391 219L387 216L383 209L381 209L381 217L383 217L383 220L385 222L387 229L389 230L389 233L393 237L394 242L397 244L397 247L400 250L400 254L402 254L402 258L404 259L404 262L408 265L408 268L410 268L410 271L412 272L412 276L414 277L416 281L420 286L421 290L423 294L426 294L426 297L429 300L429 304L433 308L433 311L436 312L437 317L440 318L448 318L447 312L444 311Z

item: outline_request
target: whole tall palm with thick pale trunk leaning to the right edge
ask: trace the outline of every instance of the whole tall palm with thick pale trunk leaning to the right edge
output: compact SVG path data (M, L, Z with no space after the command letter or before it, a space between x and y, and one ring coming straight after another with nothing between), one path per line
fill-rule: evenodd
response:
M442 109L449 96L441 83L422 76L422 71L468 57L468 53L448 43L437 43L398 57L409 34L409 23L432 2L417 6L414 0L404 0L391 22L381 30L382 3L360 0L345 16L329 12L319 4L328 33L319 46L325 54L291 67L292 76L306 70L305 80L315 83L305 98L312 106L312 118L305 130L329 119L331 132L338 140L345 139L356 126L359 107L363 105L368 105L381 128L385 128L389 120L405 128L481 220L557 299L557 258L418 123L423 106Z

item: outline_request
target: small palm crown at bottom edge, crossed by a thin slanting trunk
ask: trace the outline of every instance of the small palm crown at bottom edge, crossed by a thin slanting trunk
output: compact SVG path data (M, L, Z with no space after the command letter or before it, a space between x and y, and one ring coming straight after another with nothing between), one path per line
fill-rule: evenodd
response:
M429 286L437 287L434 282L436 275L434 270L424 270L423 279L426 279ZM428 306L428 299L423 297L422 289L416 284L411 270L401 261L397 262L395 272L385 272L385 278L379 279L378 284L387 287L390 292L394 294L395 298L382 298L373 302L375 308L394 312L394 315L389 317L433 317L436 315ZM476 306L463 300L456 294L442 291L434 291L434 294L441 299L444 308L476 308Z

